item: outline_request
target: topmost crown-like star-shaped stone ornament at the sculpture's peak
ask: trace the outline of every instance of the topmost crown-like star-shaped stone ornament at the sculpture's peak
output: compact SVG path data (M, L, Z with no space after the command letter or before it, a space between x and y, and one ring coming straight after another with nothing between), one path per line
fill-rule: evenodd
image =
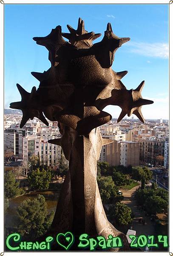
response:
M67 38L69 42L77 48L90 48L93 45L93 41L99 38L101 34L95 34L85 30L84 21L79 18L77 29L67 25L70 33L62 33L62 36Z

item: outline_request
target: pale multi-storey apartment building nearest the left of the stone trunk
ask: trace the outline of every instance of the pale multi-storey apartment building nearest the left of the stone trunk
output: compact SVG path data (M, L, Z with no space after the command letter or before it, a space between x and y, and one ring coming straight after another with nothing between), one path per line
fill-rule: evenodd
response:
M56 165L61 158L61 147L48 143L53 138L44 138L36 134L23 138L23 159L28 160L31 155L40 155L42 164Z

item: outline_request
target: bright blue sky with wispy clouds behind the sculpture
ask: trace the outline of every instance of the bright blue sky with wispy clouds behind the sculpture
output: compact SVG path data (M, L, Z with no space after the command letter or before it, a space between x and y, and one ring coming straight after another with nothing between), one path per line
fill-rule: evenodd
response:
M128 70L122 79L127 89L145 80L142 96L154 101L142 107L145 119L168 119L168 5L5 5L5 108L20 101L17 83L31 92L39 86L31 72L50 67L47 49L32 38L57 25L62 32L67 24L76 29L79 17L88 32L102 33L94 43L108 22L114 34L131 38L117 50L112 68ZM105 110L113 117L121 112L116 106Z

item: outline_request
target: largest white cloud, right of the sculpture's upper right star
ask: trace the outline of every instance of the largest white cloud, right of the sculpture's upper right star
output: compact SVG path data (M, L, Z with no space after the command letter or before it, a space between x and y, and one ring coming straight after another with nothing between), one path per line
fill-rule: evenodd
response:
M130 52L148 57L168 58L169 54L168 44L165 43L129 42L127 47L129 47Z

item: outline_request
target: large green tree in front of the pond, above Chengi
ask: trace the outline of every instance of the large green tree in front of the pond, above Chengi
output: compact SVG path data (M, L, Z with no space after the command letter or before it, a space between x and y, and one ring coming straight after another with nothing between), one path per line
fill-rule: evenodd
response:
M42 236L49 229L54 212L48 215L43 195L24 200L17 208L18 231L31 238Z

